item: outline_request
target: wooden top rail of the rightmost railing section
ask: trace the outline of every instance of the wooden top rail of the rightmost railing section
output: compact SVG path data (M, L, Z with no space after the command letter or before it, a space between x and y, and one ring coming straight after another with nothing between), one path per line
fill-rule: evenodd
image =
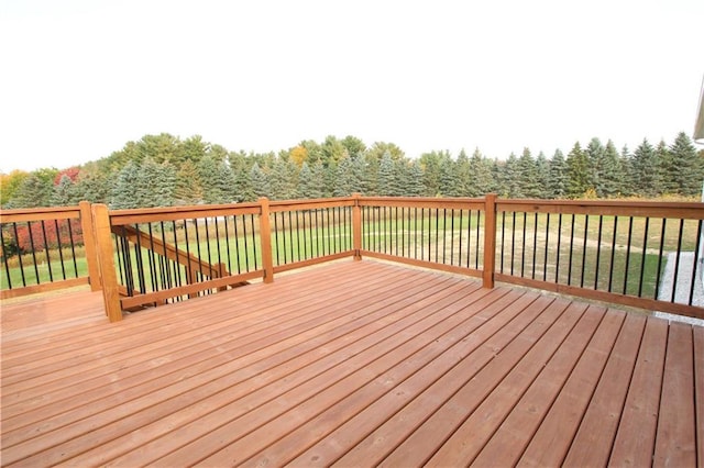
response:
M629 215L704 220L702 202L628 200L496 200L496 210L529 213Z

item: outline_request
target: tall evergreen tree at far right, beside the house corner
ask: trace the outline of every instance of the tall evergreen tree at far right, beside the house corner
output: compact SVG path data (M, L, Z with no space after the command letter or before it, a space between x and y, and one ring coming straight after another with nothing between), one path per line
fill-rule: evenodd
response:
M697 196L702 190L704 165L702 155L696 153L692 140L680 132L668 152L671 156L666 167L666 179L672 193L686 197Z

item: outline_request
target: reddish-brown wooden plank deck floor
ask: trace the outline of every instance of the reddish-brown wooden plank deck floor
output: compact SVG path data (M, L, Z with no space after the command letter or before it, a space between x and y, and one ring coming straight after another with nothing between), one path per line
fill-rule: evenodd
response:
M702 466L704 327L375 261L2 308L6 466Z

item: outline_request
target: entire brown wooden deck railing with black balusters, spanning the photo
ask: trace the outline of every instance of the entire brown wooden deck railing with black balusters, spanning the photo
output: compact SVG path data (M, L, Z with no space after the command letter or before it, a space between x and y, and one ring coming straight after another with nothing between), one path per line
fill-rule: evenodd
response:
M275 274L345 257L468 275L482 278L487 288L502 281L704 317L704 203L355 194L119 211L96 204L91 216L88 211L81 203L80 209L30 213L32 223L92 221L84 231L95 234L87 244L100 268L89 282L102 282L113 321L127 310L254 279L272 281ZM22 216L30 214L2 215L4 233L29 222ZM6 289L3 283L3 297L19 293L9 292L14 285Z

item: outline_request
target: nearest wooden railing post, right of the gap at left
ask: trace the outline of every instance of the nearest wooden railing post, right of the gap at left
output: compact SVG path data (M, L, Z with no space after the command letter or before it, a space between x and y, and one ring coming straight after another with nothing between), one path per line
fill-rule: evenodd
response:
M102 283L102 299L106 307L106 314L108 319L110 319L110 322L117 322L122 320L122 308L120 305L118 275L114 269L110 215L108 214L108 207L105 204L94 204L91 211L95 229L95 246Z

